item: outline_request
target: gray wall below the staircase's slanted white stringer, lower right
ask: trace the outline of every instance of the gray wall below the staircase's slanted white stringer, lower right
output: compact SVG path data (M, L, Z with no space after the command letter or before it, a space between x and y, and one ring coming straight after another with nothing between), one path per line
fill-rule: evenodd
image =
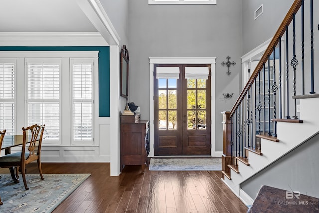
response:
M254 199L262 185L319 198L319 134L249 178L241 188Z

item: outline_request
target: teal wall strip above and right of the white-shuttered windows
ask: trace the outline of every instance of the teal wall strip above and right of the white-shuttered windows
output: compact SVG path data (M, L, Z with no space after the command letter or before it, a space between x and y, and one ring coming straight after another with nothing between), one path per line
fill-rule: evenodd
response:
M110 117L110 48L108 46L2 46L0 51L99 51L99 117Z

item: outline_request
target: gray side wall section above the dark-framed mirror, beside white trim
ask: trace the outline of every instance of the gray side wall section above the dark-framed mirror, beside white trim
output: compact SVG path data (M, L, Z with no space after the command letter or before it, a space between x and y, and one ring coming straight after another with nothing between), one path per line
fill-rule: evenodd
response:
M123 44L128 45L128 0L100 0L100 2L121 38L120 47Z

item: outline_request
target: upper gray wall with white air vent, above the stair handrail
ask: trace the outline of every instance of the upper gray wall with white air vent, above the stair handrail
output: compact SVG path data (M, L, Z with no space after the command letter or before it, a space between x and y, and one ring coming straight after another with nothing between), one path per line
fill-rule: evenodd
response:
M243 55L274 36L293 2L294 0L243 0ZM263 14L254 20L255 10L261 4Z

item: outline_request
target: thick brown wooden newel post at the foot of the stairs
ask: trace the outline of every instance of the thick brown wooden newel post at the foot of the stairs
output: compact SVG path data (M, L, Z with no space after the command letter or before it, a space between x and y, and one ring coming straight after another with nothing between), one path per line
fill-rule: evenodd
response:
M232 122L229 117L230 112L222 112L223 115L223 154L222 154L222 171L230 173L230 168L233 161L232 155ZM224 175L222 175L224 178Z

